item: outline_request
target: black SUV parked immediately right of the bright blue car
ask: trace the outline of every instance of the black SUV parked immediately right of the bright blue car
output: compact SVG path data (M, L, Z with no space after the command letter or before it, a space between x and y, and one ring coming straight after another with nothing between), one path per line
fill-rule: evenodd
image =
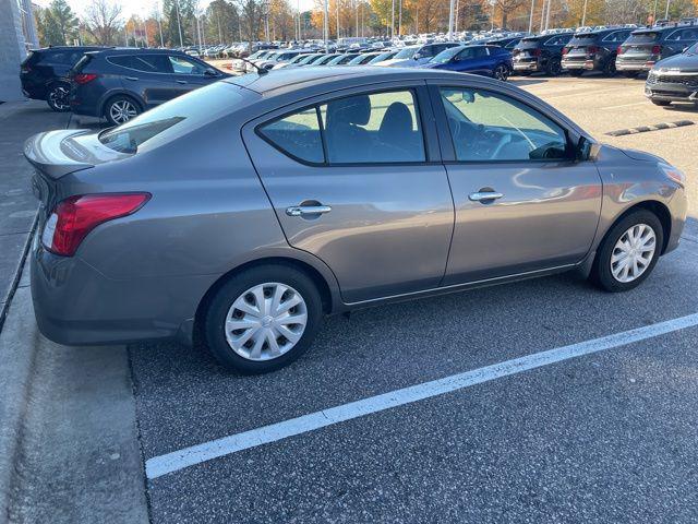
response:
M570 32L521 38L512 51L514 72L518 74L545 72L551 76L557 76L563 71L563 48L573 36L574 33Z

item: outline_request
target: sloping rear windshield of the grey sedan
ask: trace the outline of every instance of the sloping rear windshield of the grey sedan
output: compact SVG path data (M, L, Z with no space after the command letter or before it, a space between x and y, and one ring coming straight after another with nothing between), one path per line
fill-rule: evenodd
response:
M243 99L241 88L216 82L167 102L133 120L99 133L99 142L119 153L154 148L226 115Z

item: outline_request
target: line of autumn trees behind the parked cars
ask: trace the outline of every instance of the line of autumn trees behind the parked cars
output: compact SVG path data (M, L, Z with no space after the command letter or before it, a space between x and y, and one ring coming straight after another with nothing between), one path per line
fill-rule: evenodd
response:
M667 0L456 0L458 31L646 24L663 17ZM550 2L550 7L549 3ZM77 15L67 0L36 8L39 43L180 47L234 41L322 38L324 0L298 13L294 0L163 0L161 9L125 17L118 0L88 0ZM586 5L586 15L582 14ZM532 10L532 16L531 16ZM330 38L397 36L447 31L449 0L328 0ZM698 0L671 0L670 17L695 16Z

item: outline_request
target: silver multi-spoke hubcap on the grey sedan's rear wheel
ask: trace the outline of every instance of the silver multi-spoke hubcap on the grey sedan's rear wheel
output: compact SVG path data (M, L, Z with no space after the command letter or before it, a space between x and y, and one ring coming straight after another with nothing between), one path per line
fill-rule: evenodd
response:
M296 289L278 282L260 284L230 306L226 340L248 360L272 360L298 344L306 323L308 307Z

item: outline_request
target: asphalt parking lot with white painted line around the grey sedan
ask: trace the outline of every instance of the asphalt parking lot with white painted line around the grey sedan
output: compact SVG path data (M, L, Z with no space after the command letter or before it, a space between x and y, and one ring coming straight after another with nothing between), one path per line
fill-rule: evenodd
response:
M625 294L567 274L333 317L272 374L129 346L117 382L132 384L151 522L698 520L698 126L605 135L698 110L653 106L641 80L513 82L683 169L682 246Z

